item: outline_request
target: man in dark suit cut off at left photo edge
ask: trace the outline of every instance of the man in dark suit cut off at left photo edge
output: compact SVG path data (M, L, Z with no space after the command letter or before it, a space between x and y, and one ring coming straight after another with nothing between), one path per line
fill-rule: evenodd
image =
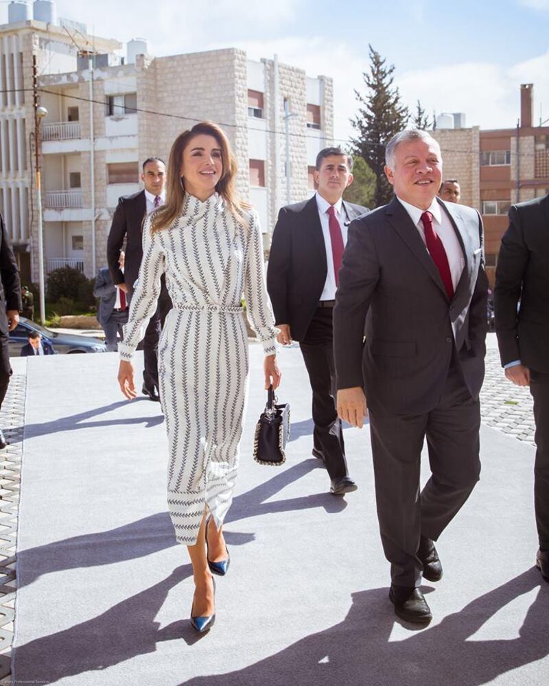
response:
M8 391L12 366L10 364L10 335L19 324L21 281L12 244L0 215L0 407ZM8 445L0 429L0 449Z

